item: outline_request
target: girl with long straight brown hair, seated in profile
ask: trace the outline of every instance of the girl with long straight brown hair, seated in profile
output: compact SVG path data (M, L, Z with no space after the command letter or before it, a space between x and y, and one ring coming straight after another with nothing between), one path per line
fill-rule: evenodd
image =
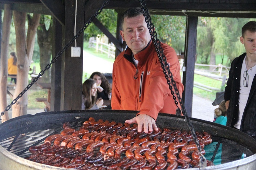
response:
M82 91L82 110L100 109L103 105L103 99L97 98L97 85L93 79L87 79L83 83Z

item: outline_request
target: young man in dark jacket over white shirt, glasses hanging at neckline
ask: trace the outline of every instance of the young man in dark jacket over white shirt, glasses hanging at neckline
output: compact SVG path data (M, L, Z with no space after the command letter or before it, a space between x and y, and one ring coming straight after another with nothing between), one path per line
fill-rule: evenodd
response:
M245 53L235 58L230 67L224 99L227 126L256 139L256 22L242 28L240 42Z

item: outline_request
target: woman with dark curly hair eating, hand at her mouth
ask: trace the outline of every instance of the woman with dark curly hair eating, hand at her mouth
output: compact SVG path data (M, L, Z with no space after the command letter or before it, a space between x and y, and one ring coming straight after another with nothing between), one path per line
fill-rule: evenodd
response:
M91 74L90 79L94 79L97 83L98 98L109 100L111 89L108 79L106 79L106 77L100 72L94 72Z

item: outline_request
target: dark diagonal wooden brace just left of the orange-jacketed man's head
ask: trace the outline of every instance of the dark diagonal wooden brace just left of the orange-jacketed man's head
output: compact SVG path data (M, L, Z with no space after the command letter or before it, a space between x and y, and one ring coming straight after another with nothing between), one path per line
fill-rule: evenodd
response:
M115 44L118 50L122 50L122 44L109 32L108 29L106 29L105 26L101 24L101 22L97 18L93 20L93 23L109 38L112 43Z

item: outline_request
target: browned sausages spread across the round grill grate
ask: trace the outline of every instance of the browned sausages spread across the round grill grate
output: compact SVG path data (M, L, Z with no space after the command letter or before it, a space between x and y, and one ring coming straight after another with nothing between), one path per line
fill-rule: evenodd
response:
M207 132L196 132L204 148L212 142ZM75 130L63 124L60 134L31 146L31 161L73 169L177 169L199 167L200 153L190 132L168 128L138 133L137 124L89 118ZM202 154L205 151L202 149ZM213 163L207 160L207 166Z

